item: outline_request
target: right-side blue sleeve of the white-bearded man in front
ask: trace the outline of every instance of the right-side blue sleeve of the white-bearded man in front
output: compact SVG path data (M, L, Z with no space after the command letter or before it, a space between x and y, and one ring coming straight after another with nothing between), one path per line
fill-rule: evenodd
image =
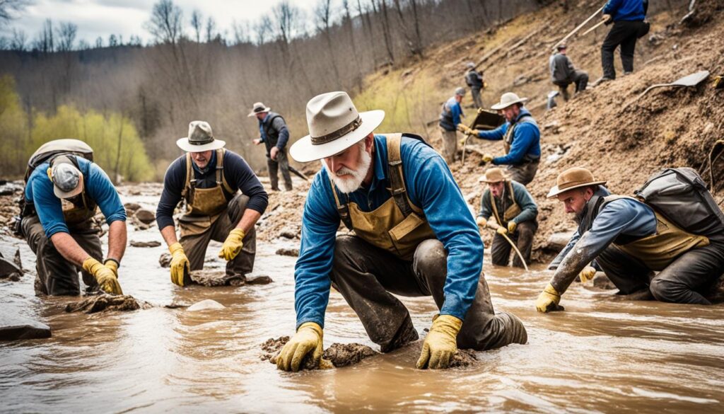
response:
M405 181L411 189L411 202L423 209L435 236L447 250L445 302L440 314L464 319L478 288L483 243L445 161L432 149L426 148L421 153L424 157L403 154Z

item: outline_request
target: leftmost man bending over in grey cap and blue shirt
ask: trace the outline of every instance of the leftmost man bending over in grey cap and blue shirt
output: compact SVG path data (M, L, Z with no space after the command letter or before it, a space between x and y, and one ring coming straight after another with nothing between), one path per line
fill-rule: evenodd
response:
M108 175L84 156L93 159L85 142L58 139L28 162L21 227L37 257L36 294L80 294L80 269L88 291L123 294L118 268L126 249L126 210ZM106 260L91 225L98 207L109 225Z

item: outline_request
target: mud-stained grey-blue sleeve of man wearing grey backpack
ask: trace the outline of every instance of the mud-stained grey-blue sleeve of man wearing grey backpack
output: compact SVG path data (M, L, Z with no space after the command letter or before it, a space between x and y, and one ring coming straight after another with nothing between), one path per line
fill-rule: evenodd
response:
M563 294L578 273L592 262L621 233L649 236L656 233L656 216L645 204L618 199L603 207L593 220L591 230L581 235L563 258L550 282Z

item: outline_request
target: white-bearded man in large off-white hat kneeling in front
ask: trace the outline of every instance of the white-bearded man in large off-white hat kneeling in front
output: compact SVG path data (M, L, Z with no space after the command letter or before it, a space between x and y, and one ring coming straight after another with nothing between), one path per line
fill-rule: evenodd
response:
M483 246L463 195L442 158L419 136L375 135L384 112L358 113L345 92L307 104L310 135L290 148L324 168L309 189L295 266L297 333L277 367L319 362L330 286L357 313L382 352L418 339L393 294L432 296L439 307L418 368L446 368L460 348L526 343L509 313L495 314L481 276ZM340 222L354 233L337 237Z

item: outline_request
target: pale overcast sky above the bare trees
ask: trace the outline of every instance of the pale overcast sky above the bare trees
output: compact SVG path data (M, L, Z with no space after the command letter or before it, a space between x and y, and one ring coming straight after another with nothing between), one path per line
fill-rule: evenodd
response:
M211 16L216 20L217 31L233 38L232 23L256 22L271 12L281 0L174 0L183 10L185 33L190 34L190 18L194 9L201 11L204 22ZM140 36L144 44L151 38L143 29L143 23L151 16L156 1L152 0L34 0L33 4L13 20L7 30L25 30L32 41L46 19L54 25L73 22L78 26L77 40L95 44L101 36L107 43L111 34L122 35L127 42L130 36ZM292 4L311 15L316 0L290 0ZM334 1L333 3L337 3ZM5 34L7 34L7 30Z

